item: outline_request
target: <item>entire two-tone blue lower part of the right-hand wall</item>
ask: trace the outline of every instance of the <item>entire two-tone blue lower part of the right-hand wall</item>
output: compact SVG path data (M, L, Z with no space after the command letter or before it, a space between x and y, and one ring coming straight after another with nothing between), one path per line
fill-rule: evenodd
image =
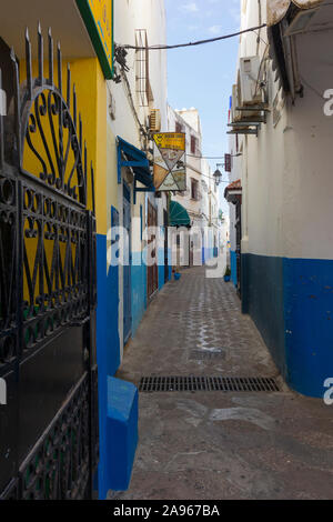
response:
M243 254L242 292L290 387L322 398L333 377L333 261Z

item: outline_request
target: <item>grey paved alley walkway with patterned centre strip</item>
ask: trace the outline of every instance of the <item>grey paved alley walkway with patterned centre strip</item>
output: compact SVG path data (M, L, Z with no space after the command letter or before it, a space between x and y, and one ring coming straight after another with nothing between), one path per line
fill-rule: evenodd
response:
M119 375L275 377L232 284L184 271L150 305ZM281 382L281 381L280 381ZM140 443L121 499L333 499L333 409L279 393L140 394Z

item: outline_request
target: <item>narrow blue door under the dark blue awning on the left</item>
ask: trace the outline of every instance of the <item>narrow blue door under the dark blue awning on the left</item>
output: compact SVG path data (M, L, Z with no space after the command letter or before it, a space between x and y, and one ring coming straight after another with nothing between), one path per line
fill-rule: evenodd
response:
M128 231L128 240L124 241L124 263L123 267L123 343L125 344L132 333L132 305L131 305L131 194L130 190L123 185L123 227Z

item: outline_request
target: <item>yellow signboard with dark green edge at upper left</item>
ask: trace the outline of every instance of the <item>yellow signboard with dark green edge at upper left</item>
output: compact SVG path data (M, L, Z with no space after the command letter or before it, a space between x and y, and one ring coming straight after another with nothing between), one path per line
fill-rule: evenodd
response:
M77 0L107 80L113 76L113 1Z

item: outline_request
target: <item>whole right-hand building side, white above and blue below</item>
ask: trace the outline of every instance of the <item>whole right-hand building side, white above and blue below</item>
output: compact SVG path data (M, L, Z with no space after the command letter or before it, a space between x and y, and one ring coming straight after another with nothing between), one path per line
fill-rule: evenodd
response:
M333 8L243 0L241 10L241 29L269 27L241 37L233 88L233 278L287 383L323 396L333 371Z

